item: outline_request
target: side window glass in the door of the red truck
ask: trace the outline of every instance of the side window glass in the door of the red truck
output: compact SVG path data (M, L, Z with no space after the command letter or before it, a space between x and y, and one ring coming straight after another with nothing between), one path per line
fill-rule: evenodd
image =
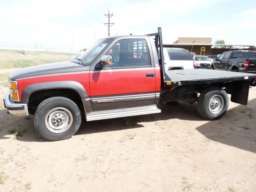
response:
M106 68L130 68L150 66L145 39L119 40L107 52L112 56L112 65Z

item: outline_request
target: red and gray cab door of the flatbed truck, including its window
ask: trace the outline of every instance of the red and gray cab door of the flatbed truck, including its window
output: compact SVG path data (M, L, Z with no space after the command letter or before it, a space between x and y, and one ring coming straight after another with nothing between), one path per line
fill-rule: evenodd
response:
M112 65L90 72L94 111L154 104L156 76L149 43L149 39L123 39L106 52Z

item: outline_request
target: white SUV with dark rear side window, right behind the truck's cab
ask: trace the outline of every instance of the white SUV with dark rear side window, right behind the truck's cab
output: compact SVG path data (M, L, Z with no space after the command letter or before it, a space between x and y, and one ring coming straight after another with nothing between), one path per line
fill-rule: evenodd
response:
M194 61L186 49L164 47L163 54L165 70L194 69Z

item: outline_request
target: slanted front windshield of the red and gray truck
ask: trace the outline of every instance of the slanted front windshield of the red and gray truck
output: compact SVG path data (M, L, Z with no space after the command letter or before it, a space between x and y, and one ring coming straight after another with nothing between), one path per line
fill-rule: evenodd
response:
M78 56L78 58L74 59L72 62L82 65L89 65L98 54L104 49L104 47L110 42L110 39L100 39L95 42L90 48L88 48L83 54Z

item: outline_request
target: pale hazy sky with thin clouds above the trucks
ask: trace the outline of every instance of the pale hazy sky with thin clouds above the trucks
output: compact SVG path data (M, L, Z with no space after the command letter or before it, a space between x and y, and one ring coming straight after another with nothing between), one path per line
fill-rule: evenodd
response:
M256 46L255 0L0 0L0 46L88 48L94 34L108 36L108 9L110 36L162 27L164 44L210 37Z

